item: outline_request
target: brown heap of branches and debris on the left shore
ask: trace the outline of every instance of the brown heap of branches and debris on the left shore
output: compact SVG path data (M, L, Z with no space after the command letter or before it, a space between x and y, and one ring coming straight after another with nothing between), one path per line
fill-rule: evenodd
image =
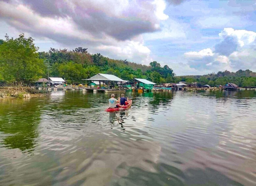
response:
M32 87L0 87L0 97L31 97L33 94L38 94L39 91Z

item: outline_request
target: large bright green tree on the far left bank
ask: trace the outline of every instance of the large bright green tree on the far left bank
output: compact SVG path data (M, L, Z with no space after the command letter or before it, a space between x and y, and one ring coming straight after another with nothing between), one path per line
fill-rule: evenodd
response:
M43 59L39 59L38 47L34 40L20 34L18 38L9 38L0 45L0 69L7 82L35 82L43 75Z

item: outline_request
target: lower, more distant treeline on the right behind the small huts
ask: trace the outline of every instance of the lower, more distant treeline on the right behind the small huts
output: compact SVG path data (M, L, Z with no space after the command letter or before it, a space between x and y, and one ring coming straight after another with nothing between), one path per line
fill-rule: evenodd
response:
M239 87L254 88L256 87L256 72L249 69L238 70L236 72L230 72L228 70L219 71L218 73L211 73L207 75L189 75L189 76L176 76L173 77L176 82L186 81L188 84L197 82L198 86L204 86L205 84L215 87L218 85L225 85L227 83L235 83ZM172 80L172 79L170 79Z

